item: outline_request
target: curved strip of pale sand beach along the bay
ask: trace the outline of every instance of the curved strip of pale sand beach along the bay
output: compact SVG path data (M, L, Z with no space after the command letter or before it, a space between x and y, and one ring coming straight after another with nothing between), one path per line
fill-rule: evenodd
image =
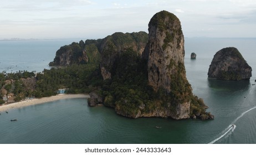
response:
M43 104L45 102L62 100L62 99L75 99L75 98L88 98L89 95L86 94L63 94L63 95L56 95L50 97L42 97L40 99L32 99L32 100L24 100L21 102L16 102L13 104L2 105L0 106L0 111L8 111L11 108L19 108L24 106L36 105L36 104Z

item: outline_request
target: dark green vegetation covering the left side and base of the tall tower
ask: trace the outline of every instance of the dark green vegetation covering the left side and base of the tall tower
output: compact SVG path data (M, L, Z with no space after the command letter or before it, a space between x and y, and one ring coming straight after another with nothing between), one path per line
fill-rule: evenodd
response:
M172 82L173 90L170 94L166 94L163 89L154 91L147 80L147 62L136 51L125 51L118 56L118 60L114 64L112 78L104 80L101 86L100 95L103 96L105 106L114 107L120 115L137 118L151 116L158 111L174 111L176 104L191 101L191 116L208 116L203 100L193 96L191 86L188 82L183 85L185 81L182 78ZM185 71L184 68L181 71ZM167 116L160 114L159 117Z

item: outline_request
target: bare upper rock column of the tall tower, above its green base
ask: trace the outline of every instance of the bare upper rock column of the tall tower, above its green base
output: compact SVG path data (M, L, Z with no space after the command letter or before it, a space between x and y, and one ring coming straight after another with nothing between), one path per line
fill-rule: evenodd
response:
M155 90L171 90L174 65L184 63L184 38L180 20L166 11L155 14L149 23L149 84Z

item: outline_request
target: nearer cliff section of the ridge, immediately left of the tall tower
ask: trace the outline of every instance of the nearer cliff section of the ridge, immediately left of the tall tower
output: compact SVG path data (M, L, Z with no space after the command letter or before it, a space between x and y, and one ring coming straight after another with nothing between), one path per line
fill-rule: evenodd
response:
M146 46L148 35L146 32L121 33L117 32L104 38L100 45L100 70L103 79L111 79L111 71L120 53L134 50L140 55Z

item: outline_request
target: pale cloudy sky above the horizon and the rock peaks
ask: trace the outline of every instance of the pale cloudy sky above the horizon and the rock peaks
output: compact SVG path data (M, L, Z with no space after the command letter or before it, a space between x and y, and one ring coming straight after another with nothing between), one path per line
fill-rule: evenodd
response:
M255 0L1 0L0 39L147 32L162 10L176 14L185 37L256 37Z

